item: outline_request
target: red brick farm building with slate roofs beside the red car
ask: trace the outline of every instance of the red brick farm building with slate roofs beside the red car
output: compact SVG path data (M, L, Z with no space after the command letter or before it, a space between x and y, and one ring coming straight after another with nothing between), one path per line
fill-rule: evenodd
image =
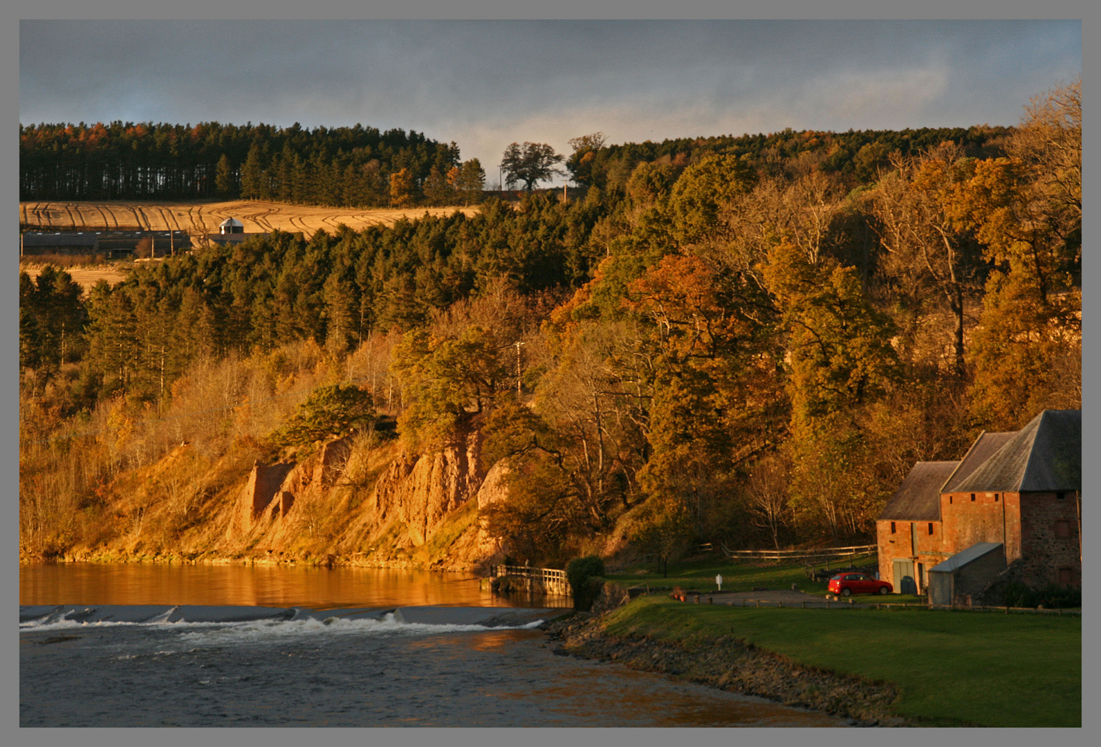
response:
M915 464L876 522L880 578L952 600L999 577L1080 586L1081 432L1081 410L1045 410L959 462Z

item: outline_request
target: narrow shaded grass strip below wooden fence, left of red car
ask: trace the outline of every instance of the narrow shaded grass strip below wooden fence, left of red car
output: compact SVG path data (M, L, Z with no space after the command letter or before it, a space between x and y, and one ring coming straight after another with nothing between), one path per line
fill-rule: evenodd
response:
M869 565L875 562L875 555L859 555L853 559L857 566ZM818 563L816 569L825 567L825 563ZM844 563L831 563L831 569L837 569L840 573L849 567L849 561ZM749 592L754 586L766 586L768 588L792 588L792 584L797 584L800 592L826 595L826 584L809 581L803 571L803 563L787 565L765 565L746 561L726 560L721 555L716 555L706 560L684 561L680 563L669 563L669 575L663 577L653 564L639 565L624 569L619 573L604 574L604 578L626 586L658 586L673 587L683 586L685 589L698 589L700 592L715 591L715 575L722 574L722 591L724 592ZM891 594L886 597L877 597L879 602L890 602L902 604L906 602L924 602L924 597Z

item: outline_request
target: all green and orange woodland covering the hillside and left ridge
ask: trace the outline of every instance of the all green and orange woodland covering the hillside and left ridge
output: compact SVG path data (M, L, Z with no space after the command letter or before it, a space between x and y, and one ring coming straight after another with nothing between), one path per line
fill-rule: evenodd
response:
M182 442L195 474L270 457L338 383L416 453L479 429L510 465L489 527L532 564L614 532L658 556L868 538L915 461L1081 407L1080 101L1016 128L593 133L565 159L582 197L274 232L85 294L21 273L21 542L140 529L105 498L127 469ZM465 165L358 126L20 133L23 199L389 205L405 170L397 198L434 204ZM171 531L203 490L165 487Z

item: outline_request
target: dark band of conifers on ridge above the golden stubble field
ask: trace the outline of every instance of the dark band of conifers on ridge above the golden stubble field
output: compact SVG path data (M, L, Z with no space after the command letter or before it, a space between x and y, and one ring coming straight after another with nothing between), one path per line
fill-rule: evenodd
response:
M484 174L413 130L299 124L20 124L20 199L279 199L330 206L454 204ZM458 193L458 194L456 194Z

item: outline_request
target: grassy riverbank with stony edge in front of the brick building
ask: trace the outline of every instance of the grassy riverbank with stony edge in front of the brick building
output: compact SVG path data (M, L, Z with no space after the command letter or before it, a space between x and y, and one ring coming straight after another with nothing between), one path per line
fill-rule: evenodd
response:
M642 596L547 629L564 653L866 725L1081 725L1078 617L757 609Z

